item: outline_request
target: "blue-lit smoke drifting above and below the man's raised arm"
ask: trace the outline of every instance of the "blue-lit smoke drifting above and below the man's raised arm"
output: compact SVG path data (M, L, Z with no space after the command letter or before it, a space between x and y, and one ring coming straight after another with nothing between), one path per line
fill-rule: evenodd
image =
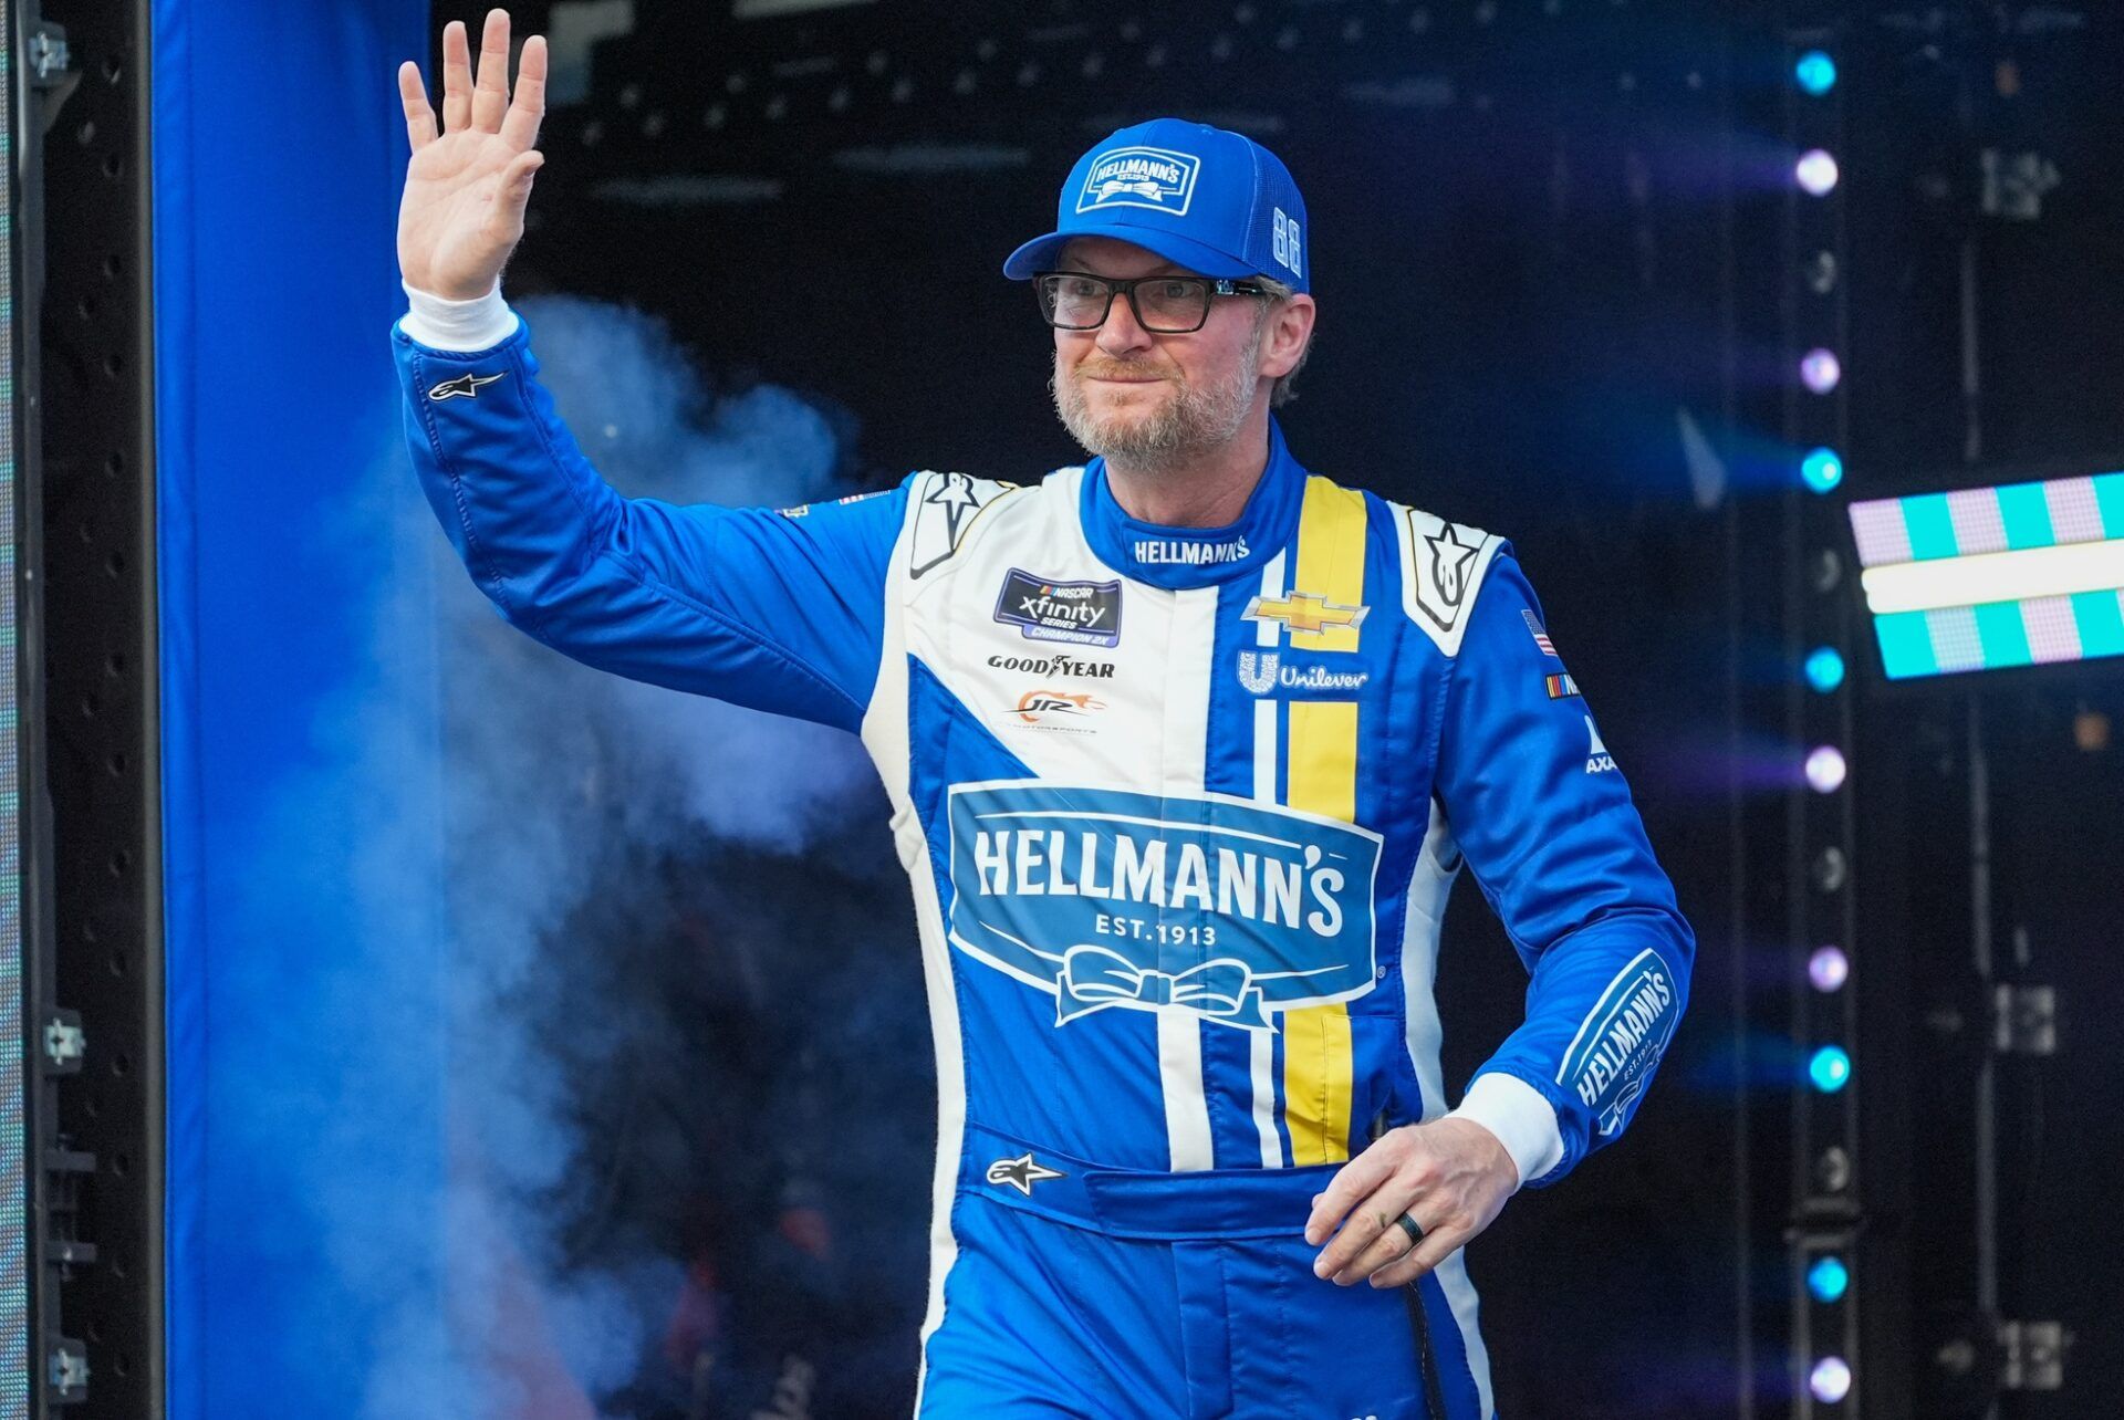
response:
M841 439L803 399L712 397L635 312L520 310L546 386L620 492L788 505L843 490ZM329 1414L588 1420L656 1354L686 1286L671 1229L644 1223L678 1203L618 1193L771 1163L741 1138L763 1108L743 1095L777 1089L758 1059L777 1038L752 1006L769 995L760 964L788 945L765 940L746 894L858 815L875 862L841 870L877 874L884 800L854 737L601 675L508 628L401 450L380 452L325 554L374 569L374 603L346 611L372 656L242 853L244 932L287 949L251 968L266 1019L246 1049L210 1055L234 1080L219 1146L278 1150L310 1214L287 1233L316 1240L314 1269L276 1305L304 1337L287 1369L346 1401ZM911 962L890 917L799 911L828 991L845 966L830 942L877 936ZM716 940L695 957L686 932ZM703 1000L724 1015L703 1025ZM864 1029L896 1042L909 1012L886 1015L856 1023L856 1044ZM688 1066L703 1040L729 1070L769 1074L718 1089ZM641 1110L669 1119L637 1127Z

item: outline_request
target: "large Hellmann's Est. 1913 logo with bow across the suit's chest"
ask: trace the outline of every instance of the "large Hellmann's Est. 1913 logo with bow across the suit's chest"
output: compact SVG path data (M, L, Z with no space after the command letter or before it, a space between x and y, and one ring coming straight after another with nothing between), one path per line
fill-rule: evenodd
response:
M952 942L1056 998L1277 1029L1372 989L1381 838L1223 794L952 787Z

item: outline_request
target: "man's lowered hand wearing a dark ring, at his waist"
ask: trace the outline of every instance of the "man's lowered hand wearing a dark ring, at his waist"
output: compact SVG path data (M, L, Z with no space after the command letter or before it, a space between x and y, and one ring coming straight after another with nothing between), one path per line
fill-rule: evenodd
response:
M1334 1233L1313 1276L1338 1286L1361 1278L1372 1286L1415 1282L1489 1227L1517 1189L1512 1155L1472 1119L1389 1129L1313 1199L1306 1242ZM1410 1244L1398 1223L1404 1212L1423 1227L1421 1244Z

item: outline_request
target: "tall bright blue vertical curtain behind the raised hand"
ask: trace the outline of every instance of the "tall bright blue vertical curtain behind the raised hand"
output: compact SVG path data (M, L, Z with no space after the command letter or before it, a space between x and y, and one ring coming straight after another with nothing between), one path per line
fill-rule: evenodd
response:
M389 329L429 6L153 25L170 1416L416 1416L440 705Z

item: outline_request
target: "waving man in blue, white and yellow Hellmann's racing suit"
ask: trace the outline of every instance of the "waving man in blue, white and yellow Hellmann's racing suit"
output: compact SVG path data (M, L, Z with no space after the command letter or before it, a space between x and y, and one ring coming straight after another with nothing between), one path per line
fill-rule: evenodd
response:
M588 664L862 734L913 883L939 1150L918 1409L1489 1416L1461 1246L1635 1112L1689 925L1510 548L1306 473L1270 416L1311 233L1260 144L1158 119L1005 265L1096 454L784 512L620 499L499 272L514 104L399 70L421 482L480 590ZM1534 972L1446 1110L1470 864Z

